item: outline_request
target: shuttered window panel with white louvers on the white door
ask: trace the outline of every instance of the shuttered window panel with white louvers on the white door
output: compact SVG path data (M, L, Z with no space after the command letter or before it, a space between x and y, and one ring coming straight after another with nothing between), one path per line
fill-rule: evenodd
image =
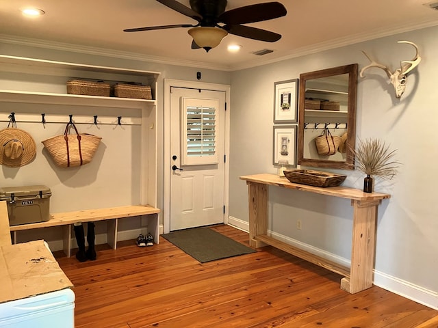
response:
M218 100L181 98L181 165L218 163Z

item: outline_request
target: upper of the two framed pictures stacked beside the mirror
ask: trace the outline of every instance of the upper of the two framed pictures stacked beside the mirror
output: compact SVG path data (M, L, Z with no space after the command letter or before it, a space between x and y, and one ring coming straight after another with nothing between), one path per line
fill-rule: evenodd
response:
M298 122L298 79L274 83L274 123Z

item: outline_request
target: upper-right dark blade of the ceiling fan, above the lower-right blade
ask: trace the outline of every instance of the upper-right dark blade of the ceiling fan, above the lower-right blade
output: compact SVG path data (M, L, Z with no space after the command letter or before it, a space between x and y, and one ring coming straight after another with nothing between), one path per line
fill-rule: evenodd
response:
M261 22L285 16L287 10L284 5L279 2L257 3L255 5L246 5L244 7L235 8L224 12L218 17L219 22L237 25Z

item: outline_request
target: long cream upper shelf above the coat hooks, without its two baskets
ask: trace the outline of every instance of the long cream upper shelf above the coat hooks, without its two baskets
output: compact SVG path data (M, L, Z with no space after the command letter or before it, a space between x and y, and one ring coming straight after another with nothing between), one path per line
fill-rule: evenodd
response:
M8 79L6 74L5 79L0 79L0 92L5 96L2 97L2 100L5 101L10 99L10 101L16 102L16 99L20 99L22 102L38 101L39 103L53 103L56 105L66 103L67 105L119 108L144 108L144 104L149 103L155 105L156 83L159 76L159 72L145 70L93 66L8 55L0 55L0 70L12 72L14 75L25 74L23 79L26 79L26 83L23 83L22 80L14 81L13 77ZM103 80L108 81L110 84L140 82L151 86L153 100L67 94L66 82L70 79ZM6 95L8 92L10 94ZM16 94L16 98L13 98L12 94Z

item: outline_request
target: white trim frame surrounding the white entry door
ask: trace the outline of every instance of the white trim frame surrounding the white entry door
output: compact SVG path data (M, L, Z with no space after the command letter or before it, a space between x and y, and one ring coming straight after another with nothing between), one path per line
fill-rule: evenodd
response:
M224 154L227 156L227 161L224 163L224 224L228 223L229 217L229 149L230 149L230 85L205 83L196 81L184 81L176 79L164 79L164 159L163 159L163 232L167 234L170 232L170 88L171 87L188 87L193 89L205 89L213 91L225 92L225 102L227 103L227 110L225 111L225 145ZM166 169L167 167L167 169Z

